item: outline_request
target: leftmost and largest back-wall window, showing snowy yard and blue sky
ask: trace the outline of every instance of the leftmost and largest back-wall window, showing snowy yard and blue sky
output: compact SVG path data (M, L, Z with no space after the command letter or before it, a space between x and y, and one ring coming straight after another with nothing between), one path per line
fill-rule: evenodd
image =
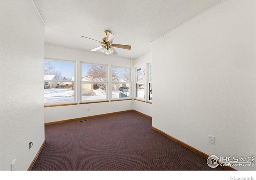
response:
M45 104L76 102L75 85L75 62L44 60Z

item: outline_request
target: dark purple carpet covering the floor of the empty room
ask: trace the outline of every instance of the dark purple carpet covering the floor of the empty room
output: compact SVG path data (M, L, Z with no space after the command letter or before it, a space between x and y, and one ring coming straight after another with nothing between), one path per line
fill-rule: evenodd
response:
M151 129L136 112L45 126L32 170L224 170Z

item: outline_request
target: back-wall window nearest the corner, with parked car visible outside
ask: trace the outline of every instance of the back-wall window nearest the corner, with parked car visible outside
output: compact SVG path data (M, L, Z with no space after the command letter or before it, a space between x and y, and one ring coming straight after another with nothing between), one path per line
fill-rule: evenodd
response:
M130 97L130 68L112 67L112 99Z

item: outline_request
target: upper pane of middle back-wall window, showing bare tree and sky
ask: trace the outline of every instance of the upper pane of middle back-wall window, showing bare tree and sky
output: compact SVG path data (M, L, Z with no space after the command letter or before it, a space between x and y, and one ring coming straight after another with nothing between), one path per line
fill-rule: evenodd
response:
M82 64L82 81L106 81L106 66Z

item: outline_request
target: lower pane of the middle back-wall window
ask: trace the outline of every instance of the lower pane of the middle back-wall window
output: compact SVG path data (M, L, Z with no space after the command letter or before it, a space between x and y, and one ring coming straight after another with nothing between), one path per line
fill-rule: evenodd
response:
M82 83L82 101L106 98L106 83Z

